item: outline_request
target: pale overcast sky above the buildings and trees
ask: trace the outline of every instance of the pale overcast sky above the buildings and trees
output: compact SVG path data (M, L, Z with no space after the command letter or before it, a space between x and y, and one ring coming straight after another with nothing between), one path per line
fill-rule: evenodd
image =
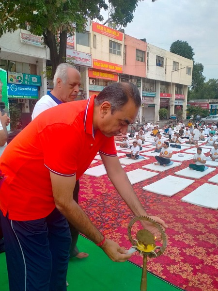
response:
M172 42L187 41L206 81L218 79L218 0L143 0L125 33L168 51Z

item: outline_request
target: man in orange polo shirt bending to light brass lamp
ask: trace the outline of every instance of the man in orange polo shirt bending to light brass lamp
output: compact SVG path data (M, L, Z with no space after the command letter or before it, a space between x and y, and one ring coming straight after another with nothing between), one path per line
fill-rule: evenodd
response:
M6 177L0 189L0 215L10 291L66 290L71 242L67 220L110 259L131 257L116 242L105 239L73 200L72 192L99 151L127 206L135 215L148 215L121 167L114 144L114 136L126 132L140 105L134 84L114 83L97 97L63 103L41 113L6 147L0 158ZM167 227L160 218L151 217ZM160 235L150 224L143 226Z

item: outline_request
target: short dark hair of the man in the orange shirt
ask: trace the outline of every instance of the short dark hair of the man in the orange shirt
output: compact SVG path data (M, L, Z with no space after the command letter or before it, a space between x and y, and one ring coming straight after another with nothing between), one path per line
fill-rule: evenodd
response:
M131 82L113 83L105 87L94 99L95 105L100 105L109 101L111 105L111 114L121 110L122 107L131 99L136 108L141 106L141 97L139 89Z

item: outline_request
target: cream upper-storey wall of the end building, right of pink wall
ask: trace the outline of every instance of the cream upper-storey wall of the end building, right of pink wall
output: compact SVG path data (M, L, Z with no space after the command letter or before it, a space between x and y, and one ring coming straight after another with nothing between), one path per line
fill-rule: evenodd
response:
M184 85L191 85L193 61L174 54L165 49L157 48L147 44L147 78L159 81L171 82L171 71L173 70L173 61L179 63L179 71L172 73L172 82ZM164 58L163 67L156 65L156 56ZM186 67L191 67L191 75L187 74Z

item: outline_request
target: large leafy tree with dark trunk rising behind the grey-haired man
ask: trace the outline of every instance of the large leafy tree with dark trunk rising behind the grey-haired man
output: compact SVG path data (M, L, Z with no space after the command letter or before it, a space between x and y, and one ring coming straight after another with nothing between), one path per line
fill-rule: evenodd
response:
M140 0L109 0L114 7L110 17L115 23L126 26L133 20L133 13ZM154 2L155 0L152 0ZM17 1L9 0L11 11L16 9ZM13 6L14 5L14 6ZM4 10L7 1L3 0ZM52 73L56 67L66 61L67 34L83 32L87 19L103 20L101 9L107 10L105 0L22 0L22 9L25 13L12 14L11 21L4 23L4 29L15 29L13 18L16 23L27 22L30 32L43 35L44 42L50 49ZM17 11L17 10L16 10ZM20 11L18 9L18 11Z

